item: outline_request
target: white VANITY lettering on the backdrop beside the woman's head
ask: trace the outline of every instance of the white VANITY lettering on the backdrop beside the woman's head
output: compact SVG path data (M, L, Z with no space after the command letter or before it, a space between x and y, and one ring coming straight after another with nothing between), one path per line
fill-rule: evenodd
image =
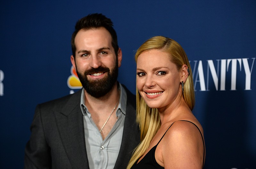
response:
M211 74L214 87L216 91L225 91L226 90L226 76L227 72L230 72L230 90L237 90L236 88L236 78L237 78L237 67L242 72L242 65L245 72L245 88L244 90L252 90L251 88L251 78L252 78L252 68L254 65L254 60L252 58L251 67L249 66L249 58L238 58L238 59L221 59L216 60L217 64L214 65L213 60L207 60L207 79L206 84L204 80L204 68L202 60L194 60L194 67L192 71L194 79L194 89L196 91L196 85L200 83L200 91L209 91L209 76ZM190 61L189 61L190 62ZM198 66L197 66L198 62ZM237 65L237 62L239 63ZM242 64L243 63L243 64ZM215 67L216 66L216 67ZM195 76L195 77L194 77ZM229 79L229 78L228 78Z

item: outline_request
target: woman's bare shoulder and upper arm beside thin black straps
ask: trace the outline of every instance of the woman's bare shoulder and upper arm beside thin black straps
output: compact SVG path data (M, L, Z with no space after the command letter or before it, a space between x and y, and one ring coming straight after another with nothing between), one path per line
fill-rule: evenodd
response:
M199 127L201 128L201 125ZM202 166L204 156L202 136L197 127L188 121L174 122L156 151L158 151L157 156L160 157L156 159L157 162L162 163L166 168L186 168L191 164L194 165L194 167L190 166L191 168Z

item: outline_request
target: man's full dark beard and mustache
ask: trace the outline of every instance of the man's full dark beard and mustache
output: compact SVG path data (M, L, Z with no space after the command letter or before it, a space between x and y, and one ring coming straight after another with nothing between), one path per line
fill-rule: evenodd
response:
M106 95L116 83L118 76L118 62L116 62L116 65L111 72L108 67L98 67L97 69L91 68L86 70L84 74L78 72L76 67L76 72L86 92L93 97L99 98ZM107 73L108 75L105 75L105 77L100 80L87 79L87 74L100 72Z

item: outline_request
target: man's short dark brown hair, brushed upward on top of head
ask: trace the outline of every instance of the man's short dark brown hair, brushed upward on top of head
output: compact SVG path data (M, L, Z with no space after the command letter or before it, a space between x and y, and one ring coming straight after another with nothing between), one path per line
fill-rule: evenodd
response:
M81 29L89 30L89 29L100 28L100 27L107 29L108 32L110 33L112 37L111 44L117 56L119 47L117 44L116 31L113 28L113 23L111 19L107 18L106 16L100 13L94 13L94 14L89 14L86 17L81 18L76 22L75 31L73 32L71 37L71 48L72 48L72 54L74 57L76 56L75 38L76 38L77 32L80 31Z

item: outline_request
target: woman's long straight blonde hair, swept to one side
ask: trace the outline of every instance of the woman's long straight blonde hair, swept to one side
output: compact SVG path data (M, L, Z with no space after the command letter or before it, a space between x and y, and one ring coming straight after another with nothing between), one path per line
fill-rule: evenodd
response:
M184 64L186 64L188 68L190 68L188 57L180 44L170 38L166 38L163 36L155 36L144 42L135 54L136 63L141 53L152 49L161 50L162 52L168 53L170 56L170 61L177 66L178 70L180 70L182 65ZM187 78L187 81L184 83L184 99L185 102L188 104L188 107L192 110L195 105L195 93L191 72ZM127 169L130 169L132 165L145 153L151 140L161 126L160 116L157 109L148 107L146 102L141 98L137 88L136 102L136 121L137 123L139 123L140 126L141 142L134 150Z

